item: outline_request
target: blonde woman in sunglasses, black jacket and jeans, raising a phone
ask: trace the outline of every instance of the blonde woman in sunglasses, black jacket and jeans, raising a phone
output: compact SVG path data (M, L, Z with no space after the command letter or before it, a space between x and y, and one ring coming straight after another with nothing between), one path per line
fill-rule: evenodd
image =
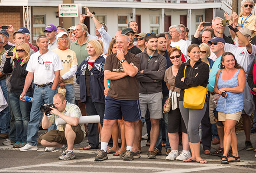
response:
M13 110L16 126L16 143L13 147L17 148L23 147L26 144L30 109L32 106L32 103L23 102L19 99L23 91L26 75L28 74L26 66L30 57L29 52L30 48L27 43L16 45L15 49L13 49L13 56L8 56L8 51L5 52L6 61L3 67L3 73L12 73L10 77L10 105ZM11 59L13 63L11 63ZM29 86L26 96L32 97L32 90L32 86Z

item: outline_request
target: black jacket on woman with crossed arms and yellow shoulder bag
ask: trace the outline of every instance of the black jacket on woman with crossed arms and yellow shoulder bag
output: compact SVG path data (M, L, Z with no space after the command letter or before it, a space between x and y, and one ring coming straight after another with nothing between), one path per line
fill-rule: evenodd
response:
M187 66L185 71L185 80L181 81L181 78L184 77L184 69ZM175 78L175 85L177 88L181 89L181 95L179 101L183 101L184 89L190 88L192 86L204 86L206 87L209 79L209 65L199 59L193 67L190 65L190 59L186 63L182 63L178 68L178 74ZM196 74L198 74L196 76ZM195 77L196 76L196 77Z

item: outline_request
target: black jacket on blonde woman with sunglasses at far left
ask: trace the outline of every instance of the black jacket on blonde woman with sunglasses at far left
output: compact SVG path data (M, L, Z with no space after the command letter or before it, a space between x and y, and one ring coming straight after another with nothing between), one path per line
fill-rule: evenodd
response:
M8 74L12 73L10 84L11 84L11 90L15 93L22 93L25 79L28 74L28 71L26 71L27 63L23 64L23 66L20 65L21 61L18 61L16 58L13 59L14 66L11 63L11 58L6 58L6 61L3 66L3 73ZM27 92L32 91L32 86L29 86L29 89Z

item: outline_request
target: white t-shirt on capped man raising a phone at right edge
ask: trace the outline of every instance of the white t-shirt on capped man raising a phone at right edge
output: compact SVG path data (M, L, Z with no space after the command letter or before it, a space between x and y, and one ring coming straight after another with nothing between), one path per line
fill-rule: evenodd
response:
M252 53L249 54L246 47L238 47L236 45L232 45L229 43L225 43L224 48L225 52L229 51L235 55L237 63L240 66L242 66L245 71L247 71L247 69L250 68L249 65L256 55L256 47L254 45L252 45L252 49Z

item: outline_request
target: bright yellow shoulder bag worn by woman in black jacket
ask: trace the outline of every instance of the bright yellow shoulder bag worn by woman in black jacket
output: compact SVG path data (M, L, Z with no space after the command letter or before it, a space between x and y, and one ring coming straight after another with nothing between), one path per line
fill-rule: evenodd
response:
M184 69L184 77L185 70ZM183 106L188 109L203 109L205 98L207 95L207 88L204 86L192 86L184 90Z

